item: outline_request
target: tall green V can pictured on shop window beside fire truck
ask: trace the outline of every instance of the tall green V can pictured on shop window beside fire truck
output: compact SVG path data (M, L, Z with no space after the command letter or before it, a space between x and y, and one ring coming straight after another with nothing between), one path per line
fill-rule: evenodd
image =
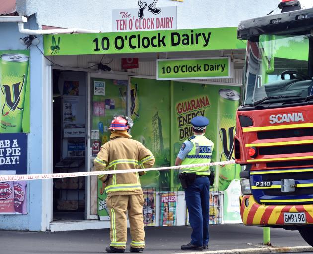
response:
M236 110L240 94L231 89L220 89L218 99L218 133L217 159L227 161L234 159L234 135L236 127ZM236 164L216 167L215 186L224 191L236 176Z

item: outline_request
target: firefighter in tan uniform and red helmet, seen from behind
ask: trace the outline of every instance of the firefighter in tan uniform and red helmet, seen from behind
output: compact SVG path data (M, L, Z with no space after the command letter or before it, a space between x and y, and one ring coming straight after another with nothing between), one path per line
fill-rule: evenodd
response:
M116 116L111 122L110 141L105 143L94 160L97 171L151 168L155 158L145 146L131 139L128 130L133 121L126 116ZM108 253L123 253L126 249L127 218L130 224L130 252L141 252L145 247L143 222L144 196L139 176L145 172L98 175L106 183L106 204L109 209L111 228Z

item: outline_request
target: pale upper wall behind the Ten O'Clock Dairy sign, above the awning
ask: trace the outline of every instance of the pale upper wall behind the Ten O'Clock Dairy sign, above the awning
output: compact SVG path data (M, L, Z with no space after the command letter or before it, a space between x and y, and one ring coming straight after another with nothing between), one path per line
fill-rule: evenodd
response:
M147 6L153 2L142 1ZM177 6L177 29L191 29L238 26L241 20L265 16L279 2L280 0L158 0L156 7ZM102 32L112 31L113 9L139 8L138 0L17 0L16 3L20 15L37 13L39 26L78 27L99 29ZM145 11L148 11L147 8Z

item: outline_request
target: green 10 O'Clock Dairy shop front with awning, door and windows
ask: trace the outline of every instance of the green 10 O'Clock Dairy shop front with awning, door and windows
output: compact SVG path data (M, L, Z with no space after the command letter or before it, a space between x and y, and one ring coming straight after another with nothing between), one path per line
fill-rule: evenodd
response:
M239 59L246 47L235 34L230 27L44 36L44 54L51 60L51 173L92 171L119 114L133 119L131 135L153 152L154 167L174 165L182 142L192 136L194 116L210 120L212 161L232 159ZM240 167L211 170L216 178L208 200L210 223L240 221L233 204ZM156 170L141 176L146 226L188 223L177 175ZM96 177L55 179L46 191L50 230L109 227L105 191Z

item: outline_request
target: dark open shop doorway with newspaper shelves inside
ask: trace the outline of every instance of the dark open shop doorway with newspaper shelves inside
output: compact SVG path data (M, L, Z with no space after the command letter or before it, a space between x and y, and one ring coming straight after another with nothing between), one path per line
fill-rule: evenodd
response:
M86 170L87 73L53 70L53 173ZM53 221L83 220L85 177L53 179Z

